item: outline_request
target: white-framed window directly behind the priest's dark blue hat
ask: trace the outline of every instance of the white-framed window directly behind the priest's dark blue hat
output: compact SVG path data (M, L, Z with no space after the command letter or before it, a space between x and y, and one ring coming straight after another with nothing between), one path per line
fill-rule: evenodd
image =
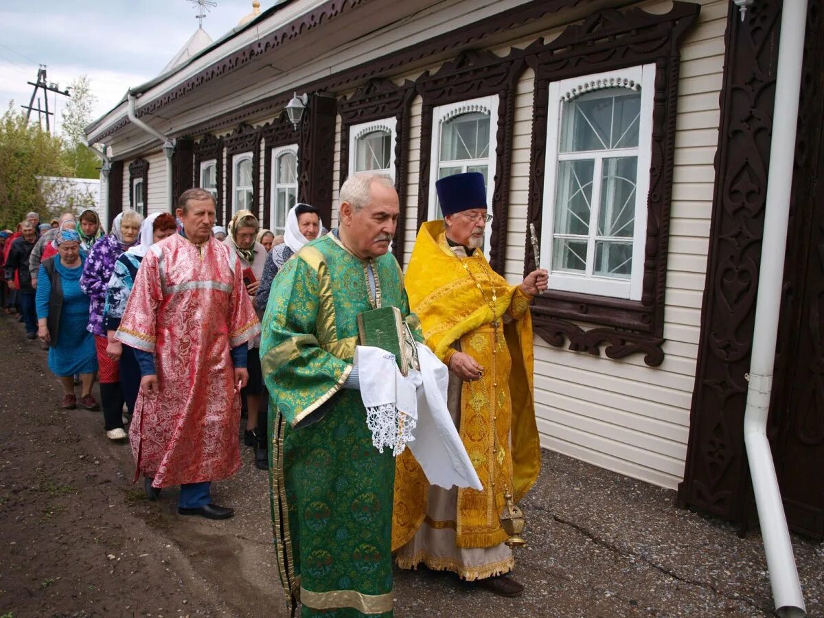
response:
M435 180L466 171L480 171L486 180L487 208L491 211L495 177L495 135L498 96L440 105L433 111L429 219L443 217ZM493 122L494 119L494 122ZM487 254L492 226L486 226Z

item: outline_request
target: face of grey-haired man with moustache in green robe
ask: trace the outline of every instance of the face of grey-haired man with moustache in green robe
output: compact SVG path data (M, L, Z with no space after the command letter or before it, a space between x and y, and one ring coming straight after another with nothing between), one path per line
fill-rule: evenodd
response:
M400 215L394 188L372 183L369 204L356 211L352 204L340 205L341 222L346 227L350 247L361 258L374 259L389 250Z

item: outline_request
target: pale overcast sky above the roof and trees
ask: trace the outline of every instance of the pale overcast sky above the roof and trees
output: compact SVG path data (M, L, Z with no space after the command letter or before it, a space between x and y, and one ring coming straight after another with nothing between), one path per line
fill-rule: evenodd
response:
M260 9L275 3L263 0ZM251 0L218 0L204 19L204 30L218 40L251 7ZM12 100L17 109L28 105L34 87L26 82L35 82L42 63L48 81L61 89L87 74L97 98L97 118L117 105L129 87L161 72L197 30L196 14L187 0L0 0L2 110ZM67 99L49 93L50 111L55 97L59 123Z

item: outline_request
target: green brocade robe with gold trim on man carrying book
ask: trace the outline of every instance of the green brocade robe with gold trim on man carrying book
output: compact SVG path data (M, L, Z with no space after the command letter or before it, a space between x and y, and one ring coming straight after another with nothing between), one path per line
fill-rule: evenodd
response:
M377 306L398 307L422 339L395 257L372 270ZM372 446L360 392L342 388L369 290L367 262L329 234L283 265L263 320L274 540L301 616L392 616L395 459Z

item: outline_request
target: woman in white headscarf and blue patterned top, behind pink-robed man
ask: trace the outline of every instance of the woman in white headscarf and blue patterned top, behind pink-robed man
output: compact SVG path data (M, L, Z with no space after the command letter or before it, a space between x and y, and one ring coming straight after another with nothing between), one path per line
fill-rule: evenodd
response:
M143 257L150 246L171 236L176 230L175 218L171 214L150 214L143 222L143 227L140 228L138 244L121 254L115 261L115 269L112 271L109 286L106 289L103 309L103 328L108 340L106 353L109 358L119 360L120 385L123 388L126 406L129 408L129 417L134 414L134 402L138 399L140 366L133 349L115 339L115 332L123 318L126 302L129 300L129 294L132 293L134 278L138 276L138 268ZM117 434L117 438L113 439L126 438L126 433L122 428L114 429L113 432Z

